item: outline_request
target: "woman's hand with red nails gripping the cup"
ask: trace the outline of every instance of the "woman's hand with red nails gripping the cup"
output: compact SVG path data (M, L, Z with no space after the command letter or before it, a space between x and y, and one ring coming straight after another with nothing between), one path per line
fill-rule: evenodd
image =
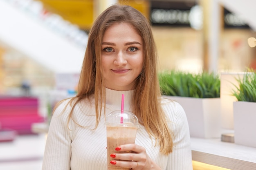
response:
M155 162L150 159L146 153L146 149L136 144L121 145L116 148L117 152L128 152L134 153L113 153L110 156L115 161L110 161L115 166L131 168L132 170L161 170Z

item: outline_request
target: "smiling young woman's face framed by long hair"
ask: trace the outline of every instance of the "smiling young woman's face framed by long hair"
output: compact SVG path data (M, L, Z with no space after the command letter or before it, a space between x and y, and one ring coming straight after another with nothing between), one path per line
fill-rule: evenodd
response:
M130 24L116 23L106 30L101 57L106 88L117 91L135 88L135 79L143 67L143 42Z

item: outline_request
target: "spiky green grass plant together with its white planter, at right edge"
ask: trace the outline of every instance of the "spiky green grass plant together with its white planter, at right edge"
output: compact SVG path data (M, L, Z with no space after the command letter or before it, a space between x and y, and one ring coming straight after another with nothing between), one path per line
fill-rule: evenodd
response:
M248 71L237 79L233 91L234 139L236 144L256 148L256 71Z

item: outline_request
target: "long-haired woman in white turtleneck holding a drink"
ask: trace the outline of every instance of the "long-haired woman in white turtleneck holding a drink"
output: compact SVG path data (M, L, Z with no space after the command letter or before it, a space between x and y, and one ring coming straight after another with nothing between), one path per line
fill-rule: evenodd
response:
M121 108L139 119L135 153L111 154L115 166L134 170L192 170L183 108L161 98L150 24L136 9L112 5L94 22L78 93L62 101L51 120L43 170L107 170L105 117Z

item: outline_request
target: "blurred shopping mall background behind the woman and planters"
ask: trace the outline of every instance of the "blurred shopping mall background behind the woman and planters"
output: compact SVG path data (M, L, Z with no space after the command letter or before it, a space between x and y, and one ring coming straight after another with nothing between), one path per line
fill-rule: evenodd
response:
M92 23L114 3L151 22L159 71L256 69L255 0L0 0L0 169L40 170L36 125L75 95Z

